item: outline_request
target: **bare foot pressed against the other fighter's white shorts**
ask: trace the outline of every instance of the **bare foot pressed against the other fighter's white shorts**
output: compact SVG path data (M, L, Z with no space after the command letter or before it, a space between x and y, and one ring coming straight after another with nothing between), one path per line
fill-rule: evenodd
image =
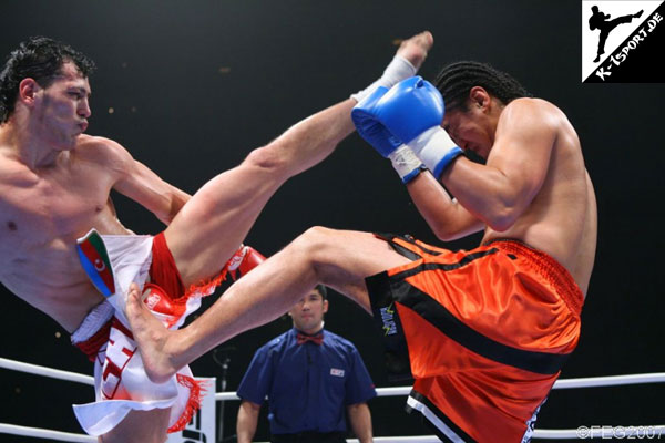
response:
M168 344L175 331L170 331L152 315L141 300L136 284L130 286L126 316L132 327L134 340L139 344L141 359L147 378L155 383L167 381L180 368L171 363Z

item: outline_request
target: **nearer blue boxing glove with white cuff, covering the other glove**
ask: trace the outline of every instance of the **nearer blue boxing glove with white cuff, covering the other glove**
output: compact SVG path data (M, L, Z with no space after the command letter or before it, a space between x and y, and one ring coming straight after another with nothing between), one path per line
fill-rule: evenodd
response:
M421 76L412 76L382 94L372 106L372 116L439 178L452 159L463 153L441 127L443 109L439 91Z

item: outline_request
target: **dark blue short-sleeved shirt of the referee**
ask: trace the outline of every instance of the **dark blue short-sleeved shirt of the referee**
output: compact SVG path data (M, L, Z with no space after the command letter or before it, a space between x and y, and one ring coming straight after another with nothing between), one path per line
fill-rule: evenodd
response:
M294 328L264 344L241 381L241 399L268 396L273 434L346 432L346 405L377 395L356 347L324 330L324 342L297 344Z

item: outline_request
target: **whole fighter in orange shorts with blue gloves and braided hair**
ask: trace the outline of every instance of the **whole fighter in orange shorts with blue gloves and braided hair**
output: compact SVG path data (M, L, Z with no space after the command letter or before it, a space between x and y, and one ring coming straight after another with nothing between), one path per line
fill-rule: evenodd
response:
M315 227L173 332L134 289L127 316L153 380L277 318L321 282L374 308L389 367L416 379L409 408L441 440L530 440L579 340L596 246L593 185L565 114L510 75L460 62L437 87L420 78L379 87L354 109L354 123L391 159L440 239L484 230L481 246L452 253Z

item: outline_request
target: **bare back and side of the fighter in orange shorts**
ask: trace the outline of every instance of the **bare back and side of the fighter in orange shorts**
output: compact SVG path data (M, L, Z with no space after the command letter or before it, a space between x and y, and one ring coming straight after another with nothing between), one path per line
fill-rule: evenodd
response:
M597 215L595 194L584 166L580 140L566 116L543 100L520 99L505 110L524 105L524 102L530 102L528 105L538 113L548 128L545 131L553 131L549 168L540 190L516 222L504 231L488 227L483 243L494 238L513 238L548 253L571 272L586 295L595 257ZM505 110L501 119L509 115ZM518 128L516 122L500 120L495 144L504 135L502 131ZM490 154L488 164L491 162Z

